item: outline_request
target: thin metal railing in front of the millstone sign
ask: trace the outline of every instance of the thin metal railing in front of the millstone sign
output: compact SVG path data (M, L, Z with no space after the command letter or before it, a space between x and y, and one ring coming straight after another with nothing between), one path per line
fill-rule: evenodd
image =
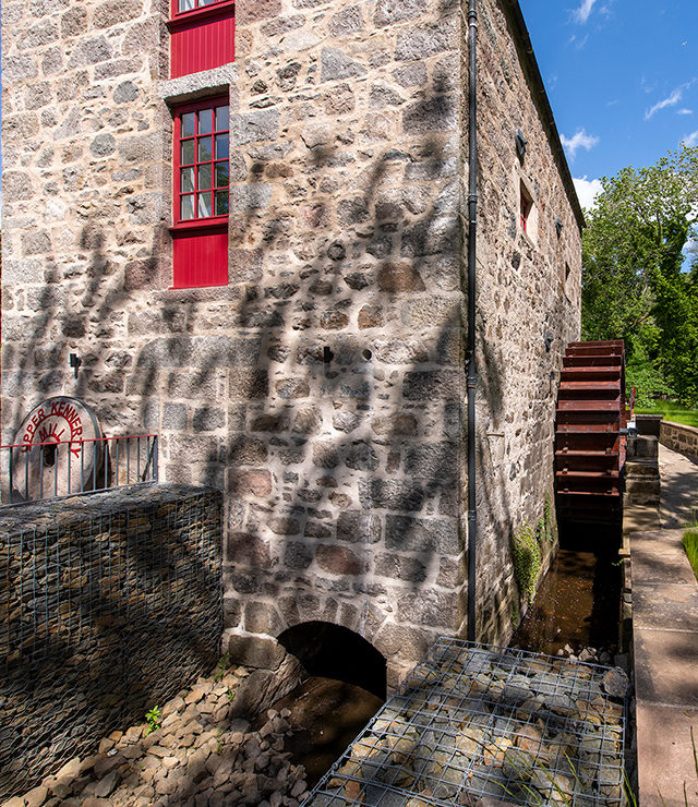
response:
M157 482L156 434L0 446L9 504Z

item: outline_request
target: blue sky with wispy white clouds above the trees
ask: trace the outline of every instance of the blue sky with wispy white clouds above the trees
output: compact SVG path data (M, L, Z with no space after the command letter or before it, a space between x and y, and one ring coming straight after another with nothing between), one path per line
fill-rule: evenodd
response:
M698 145L698 0L519 0L582 205Z

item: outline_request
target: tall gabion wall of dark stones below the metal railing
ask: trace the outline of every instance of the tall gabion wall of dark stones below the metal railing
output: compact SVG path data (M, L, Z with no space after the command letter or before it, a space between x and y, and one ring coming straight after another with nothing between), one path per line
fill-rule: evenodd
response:
M0 510L0 798L210 670L220 529L190 486Z

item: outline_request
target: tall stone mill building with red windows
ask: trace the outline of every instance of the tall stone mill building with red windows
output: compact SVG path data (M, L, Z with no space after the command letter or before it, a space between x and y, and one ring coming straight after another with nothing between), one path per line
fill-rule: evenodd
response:
M3 442L52 395L159 434L161 480L224 491L224 647L274 666L329 623L394 684L473 594L468 3L179 2L3 5ZM583 220L518 3L477 15L476 635L503 642Z

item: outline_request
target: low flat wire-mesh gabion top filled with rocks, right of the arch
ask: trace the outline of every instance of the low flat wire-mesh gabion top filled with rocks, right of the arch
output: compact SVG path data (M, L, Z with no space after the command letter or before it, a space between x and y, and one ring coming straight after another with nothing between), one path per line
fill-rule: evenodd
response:
M442 638L303 807L623 804L607 667Z

